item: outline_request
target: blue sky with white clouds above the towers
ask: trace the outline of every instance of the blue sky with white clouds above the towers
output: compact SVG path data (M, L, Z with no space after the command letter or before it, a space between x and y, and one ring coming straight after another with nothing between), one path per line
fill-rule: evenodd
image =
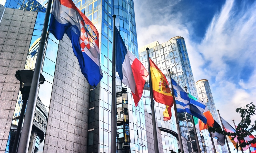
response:
M256 104L256 1L140 0L134 7L138 47L182 36L195 82L208 79L216 109L239 123L235 109Z

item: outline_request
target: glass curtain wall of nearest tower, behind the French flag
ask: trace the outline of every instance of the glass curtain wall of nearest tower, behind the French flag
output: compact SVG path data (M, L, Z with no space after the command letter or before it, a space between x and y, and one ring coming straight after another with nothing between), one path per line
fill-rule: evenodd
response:
M100 34L100 84L90 90L88 120L88 152L110 152L113 18L129 51L138 57L133 1L75 0L76 6L93 22ZM117 150L118 152L146 152L145 117L143 104L137 108L131 90L116 79L117 92Z

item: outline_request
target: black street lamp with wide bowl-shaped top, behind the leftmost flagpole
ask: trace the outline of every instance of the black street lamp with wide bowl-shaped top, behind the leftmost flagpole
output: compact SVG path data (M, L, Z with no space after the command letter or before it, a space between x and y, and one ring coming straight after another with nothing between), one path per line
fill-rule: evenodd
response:
M25 115L25 110L26 110L26 105L27 105L27 100L29 96L30 86L32 83L33 74L34 74L33 70L17 70L15 74L16 78L20 81L20 84L21 84L20 91L22 94L23 103L22 103L21 113L19 115L19 122L16 130L16 134L15 134L12 153L16 153L18 149L19 137L21 135L21 128L22 128L22 123ZM40 74L38 85L43 84L44 81L45 81L44 76Z

